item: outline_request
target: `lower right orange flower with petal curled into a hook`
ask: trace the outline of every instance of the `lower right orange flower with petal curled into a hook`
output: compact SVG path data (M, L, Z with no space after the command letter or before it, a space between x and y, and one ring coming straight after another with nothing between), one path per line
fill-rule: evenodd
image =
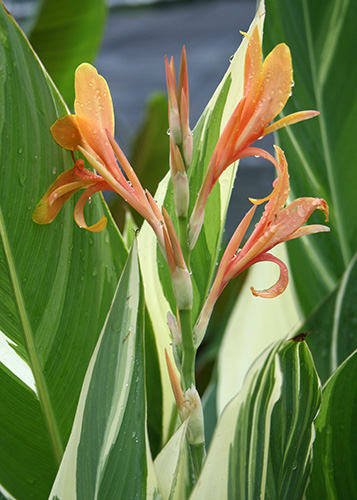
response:
M239 249L239 245L253 218L256 205L245 215L233 234L195 326L197 344L202 340L216 300L231 279L256 262L274 262L280 268L278 281L267 290L257 291L253 287L251 290L255 296L277 297L288 285L288 270L281 260L269 253L269 250L284 241L330 230L329 227L320 224L303 226L315 210L322 210L328 220L328 206L321 198L298 198L284 208L289 194L288 165L283 151L277 146L275 149L278 162L269 153L264 153L264 156L274 163L278 171L278 177L273 183L273 193L260 221L242 249Z

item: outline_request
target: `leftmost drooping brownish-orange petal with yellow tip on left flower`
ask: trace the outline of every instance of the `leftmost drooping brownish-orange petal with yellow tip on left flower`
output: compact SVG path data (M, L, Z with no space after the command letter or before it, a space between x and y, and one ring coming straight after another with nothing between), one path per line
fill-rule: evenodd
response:
M67 170L55 180L37 203L32 214L32 220L37 224L49 224L55 219L62 206L72 194L76 193L79 189L87 187L89 183L93 183L93 181L78 180L74 168ZM64 186L69 186L69 189L64 189L62 195L57 195L56 198L51 196L56 191L58 193L58 190Z

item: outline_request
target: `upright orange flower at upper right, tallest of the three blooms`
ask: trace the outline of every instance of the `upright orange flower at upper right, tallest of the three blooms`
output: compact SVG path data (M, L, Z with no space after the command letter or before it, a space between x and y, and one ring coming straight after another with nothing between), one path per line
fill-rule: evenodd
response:
M248 36L248 35L246 35ZM194 247L201 230L207 197L222 172L245 156L259 155L250 148L257 139L286 125L318 115L318 111L300 111L269 123L282 111L293 85L290 50L277 45L262 62L258 28L249 38L245 55L244 91L213 151L190 219L190 246Z

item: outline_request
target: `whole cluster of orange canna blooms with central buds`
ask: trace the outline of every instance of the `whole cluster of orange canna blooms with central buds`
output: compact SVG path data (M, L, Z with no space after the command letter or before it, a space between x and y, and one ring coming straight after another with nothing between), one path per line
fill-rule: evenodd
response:
M323 225L304 226L314 210L322 210L328 219L328 207L320 198L299 198L285 206L289 193L288 165L281 149L276 148L277 160L253 143L266 134L318 114L301 111L276 122L293 85L289 48L277 45L263 62L258 29L248 36L244 67L244 92L227 122L202 178L194 208L189 214L189 182L187 172L193 153L193 137L189 126L189 91L185 48L182 51L178 82L174 61L166 58L166 81L169 101L170 169L174 188L175 211L179 224L174 224L164 208L158 207L151 194L144 190L129 161L114 139L114 113L106 81L89 64L78 67L75 75L75 114L57 120L51 132L57 143L78 151L96 173L84 168L82 159L75 160L72 169L61 174L50 186L35 208L33 220L39 224L51 222L69 197L79 190L74 217L77 224L89 231L100 231L106 225L103 216L92 226L84 219L84 205L96 192L111 190L141 214L154 230L165 256L172 279L178 311L191 310L193 294L189 273L189 256L200 234L207 198L224 170L240 158L259 155L272 162L277 170L273 191L264 199L252 200L253 206L239 224L224 252L206 303L194 327L195 346L205 333L214 304L227 283L249 266L271 261L279 266L280 277L268 290L256 291L260 297L276 297L286 288L288 271L283 262L269 251L278 243L303 235L328 231ZM73 153L72 153L73 154ZM256 206L268 201L263 215L240 248ZM169 316L174 338L180 338L180 318Z

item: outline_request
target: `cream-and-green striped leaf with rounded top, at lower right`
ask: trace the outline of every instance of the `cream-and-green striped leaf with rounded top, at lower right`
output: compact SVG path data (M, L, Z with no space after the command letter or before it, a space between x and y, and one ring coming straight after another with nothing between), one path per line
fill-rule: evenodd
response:
M301 499L321 391L304 342L278 343L227 405L191 500Z

